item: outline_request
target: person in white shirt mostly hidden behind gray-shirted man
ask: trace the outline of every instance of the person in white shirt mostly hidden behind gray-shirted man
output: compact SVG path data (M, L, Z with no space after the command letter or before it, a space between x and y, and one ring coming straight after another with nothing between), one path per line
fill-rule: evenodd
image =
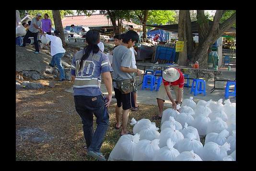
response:
M134 50L134 47L131 47L129 48L130 51L131 51L131 56L132 56L132 61L131 61L131 68L133 69L137 69L137 66L136 66L136 60L135 60L135 53L136 51ZM137 54L137 53L136 53ZM133 98L131 98L131 104L132 104L132 111L137 111L139 109L139 106L137 104L137 85L136 85L136 73L133 73L133 80L134 80L134 83L135 83L135 87L134 87L134 90L132 92L132 95L133 95Z

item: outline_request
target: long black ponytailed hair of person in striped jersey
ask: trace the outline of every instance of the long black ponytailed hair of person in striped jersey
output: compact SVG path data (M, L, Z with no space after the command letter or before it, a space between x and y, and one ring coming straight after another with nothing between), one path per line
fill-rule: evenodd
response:
M84 54L81 57L80 60L80 64L79 64L79 70L81 70L82 67L82 62L84 60L86 60L90 53L93 51L94 53L98 53L100 48L98 46L98 42L100 40L100 33L96 30L89 30L86 34L85 34L85 39L86 42L88 43L88 46L86 46L83 50L84 50Z

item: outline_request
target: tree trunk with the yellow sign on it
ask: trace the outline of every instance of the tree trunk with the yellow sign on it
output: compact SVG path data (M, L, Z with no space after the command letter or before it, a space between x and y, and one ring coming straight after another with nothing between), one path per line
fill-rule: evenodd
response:
M179 11L178 38L179 41L184 41L184 48L183 52L179 52L179 59L177 63L179 65L186 65L186 10Z

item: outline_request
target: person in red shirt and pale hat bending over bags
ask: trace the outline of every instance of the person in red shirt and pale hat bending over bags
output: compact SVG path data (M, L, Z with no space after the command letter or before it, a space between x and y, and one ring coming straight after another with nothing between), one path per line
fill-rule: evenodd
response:
M167 97L169 97L172 102L174 110L176 110L177 105L181 105L183 99L183 86L184 86L184 76L183 73L176 68L170 67L163 71L163 84L160 86L157 92L156 99L160 114L154 116L152 119L161 119L163 115L163 103ZM176 96L174 100L171 89L173 88Z

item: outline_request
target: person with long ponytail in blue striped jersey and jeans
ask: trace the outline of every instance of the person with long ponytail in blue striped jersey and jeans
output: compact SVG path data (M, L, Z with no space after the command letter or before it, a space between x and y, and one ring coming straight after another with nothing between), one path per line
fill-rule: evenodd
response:
M88 147L88 155L97 160L104 160L100 152L109 124L107 107L112 98L113 72L108 57L101 52L99 46L100 33L90 30L85 35L86 46L77 52L72 60L71 75L74 80L74 100L77 113L83 124L83 133ZM100 89L101 73L108 92L104 96ZM93 133L93 114L96 117L97 128Z

